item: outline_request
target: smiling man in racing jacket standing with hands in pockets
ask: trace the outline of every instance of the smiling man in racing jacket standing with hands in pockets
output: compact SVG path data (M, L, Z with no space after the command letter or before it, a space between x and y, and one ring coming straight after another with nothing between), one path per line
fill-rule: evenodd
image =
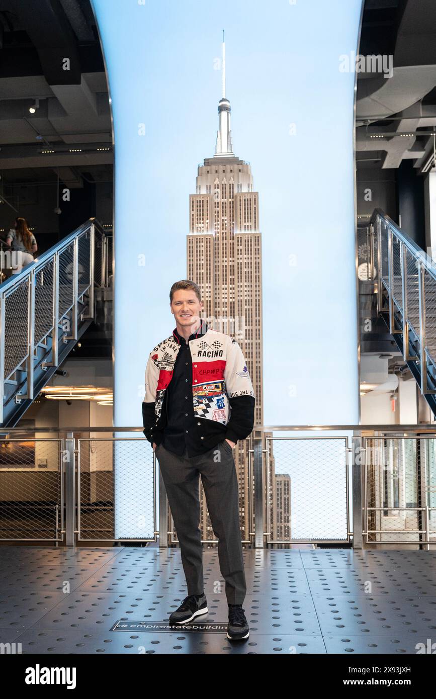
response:
M247 588L232 449L254 426L252 380L238 343L200 318L203 301L195 282L173 284L170 310L175 329L150 352L143 401L144 434L159 461L187 579L188 596L170 615L170 624L208 613L199 529L201 474L226 581L227 637L245 639Z

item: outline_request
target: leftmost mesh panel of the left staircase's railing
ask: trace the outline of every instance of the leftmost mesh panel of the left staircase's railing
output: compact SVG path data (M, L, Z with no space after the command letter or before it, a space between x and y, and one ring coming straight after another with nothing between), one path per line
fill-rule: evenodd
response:
M28 350L29 278L10 291L5 299L4 378L26 359ZM1 340L1 338L0 338Z

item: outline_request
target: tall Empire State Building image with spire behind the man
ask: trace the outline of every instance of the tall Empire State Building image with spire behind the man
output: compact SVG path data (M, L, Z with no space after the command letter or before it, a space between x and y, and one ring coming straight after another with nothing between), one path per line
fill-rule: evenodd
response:
M196 192L189 196L187 279L201 289L204 317L212 328L239 343L256 396L255 424L263 424L262 270L259 193L252 168L235 156L231 106L226 97L225 45L223 91L218 105L215 155L198 166ZM240 487L241 535L249 541L249 440L235 447ZM201 531L214 539L201 489Z

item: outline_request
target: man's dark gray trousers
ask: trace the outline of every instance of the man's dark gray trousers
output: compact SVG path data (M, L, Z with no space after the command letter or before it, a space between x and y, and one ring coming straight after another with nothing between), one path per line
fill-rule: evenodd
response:
M247 586L239 519L238 476L231 446L224 440L205 454L173 454L162 444L155 449L173 515L188 595L203 592L203 545L201 544L199 475L218 539L221 575L226 581L227 603L242 605Z

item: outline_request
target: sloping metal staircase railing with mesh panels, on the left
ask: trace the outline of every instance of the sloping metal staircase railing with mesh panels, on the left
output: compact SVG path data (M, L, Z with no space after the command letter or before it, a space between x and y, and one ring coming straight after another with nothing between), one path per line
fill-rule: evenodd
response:
M102 251L97 261L96 236L99 236ZM38 348L51 352L51 361L44 361L43 368L57 366L59 340L78 339L79 312L80 322L94 318L94 286L107 285L106 252L103 226L93 217L0 284L0 424L3 423L5 382L13 377L11 380L17 383L15 373L24 371L27 391L24 394L17 389L16 397L19 401L22 398L33 400ZM80 291L79 261L84 275ZM88 294L86 301L85 294ZM61 323L68 326L69 334L67 329L59 328ZM23 374L20 377L24 385Z

